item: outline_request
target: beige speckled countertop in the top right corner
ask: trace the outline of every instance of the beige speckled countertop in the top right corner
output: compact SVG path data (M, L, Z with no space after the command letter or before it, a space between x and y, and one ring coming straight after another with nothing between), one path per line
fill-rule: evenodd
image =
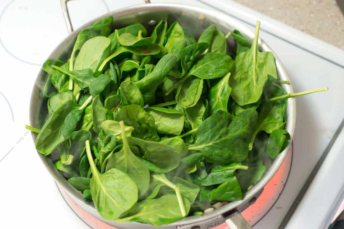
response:
M344 16L335 0L234 1L344 49Z

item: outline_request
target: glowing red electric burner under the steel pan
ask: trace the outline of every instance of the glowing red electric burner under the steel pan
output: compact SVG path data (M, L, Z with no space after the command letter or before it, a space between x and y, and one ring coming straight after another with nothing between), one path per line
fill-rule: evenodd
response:
M283 192L284 186L287 184L288 181L293 155L292 148L293 146L291 145L281 167L278 169L272 179L265 185L264 191L260 194L257 201L241 213L252 227L254 227L255 225L258 226L260 219L262 219L270 211L271 208L283 208L283 206L275 206L275 203ZM67 194L67 192L63 190L63 188L58 185L57 187L69 207L71 207L74 213L88 226L94 229L117 229L114 226L108 225L105 222L90 215L77 203L75 203L73 199ZM223 223L213 228L228 229L228 226Z

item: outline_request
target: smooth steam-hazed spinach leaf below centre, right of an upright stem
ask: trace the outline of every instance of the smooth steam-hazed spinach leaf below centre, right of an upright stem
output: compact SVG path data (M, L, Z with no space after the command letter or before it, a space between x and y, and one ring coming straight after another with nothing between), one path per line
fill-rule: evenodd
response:
M139 148L143 159L155 164L163 172L177 168L180 163L181 154L171 146L134 137L127 137L127 140L129 145Z

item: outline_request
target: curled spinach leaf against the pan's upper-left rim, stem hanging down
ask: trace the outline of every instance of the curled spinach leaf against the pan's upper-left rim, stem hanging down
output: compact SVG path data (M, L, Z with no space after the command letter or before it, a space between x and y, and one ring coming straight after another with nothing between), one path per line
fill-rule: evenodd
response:
M84 43L93 37L97 36L108 36L111 32L111 26L113 22L112 16L100 19L92 26L84 28L77 36L76 42L73 47L73 51L71 54L71 61L69 64L69 70L73 70L74 65L74 58L77 55L78 51L82 48Z

